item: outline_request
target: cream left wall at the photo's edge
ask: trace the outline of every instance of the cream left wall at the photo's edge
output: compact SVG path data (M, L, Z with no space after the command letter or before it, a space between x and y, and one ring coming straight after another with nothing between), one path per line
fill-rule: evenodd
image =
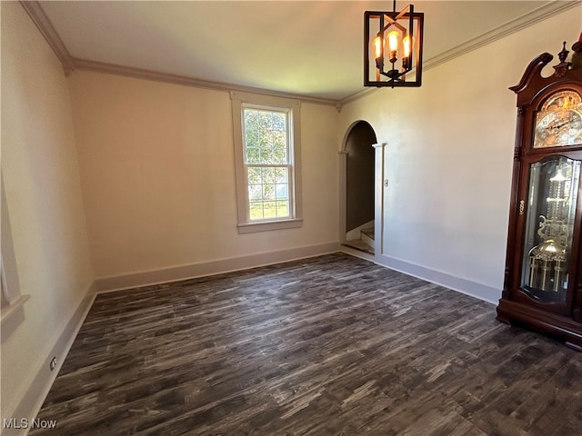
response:
M24 321L3 325L2 418L10 418L35 377L50 378L45 360L93 274L63 68L19 3L1 8L2 172L20 291L30 295Z

